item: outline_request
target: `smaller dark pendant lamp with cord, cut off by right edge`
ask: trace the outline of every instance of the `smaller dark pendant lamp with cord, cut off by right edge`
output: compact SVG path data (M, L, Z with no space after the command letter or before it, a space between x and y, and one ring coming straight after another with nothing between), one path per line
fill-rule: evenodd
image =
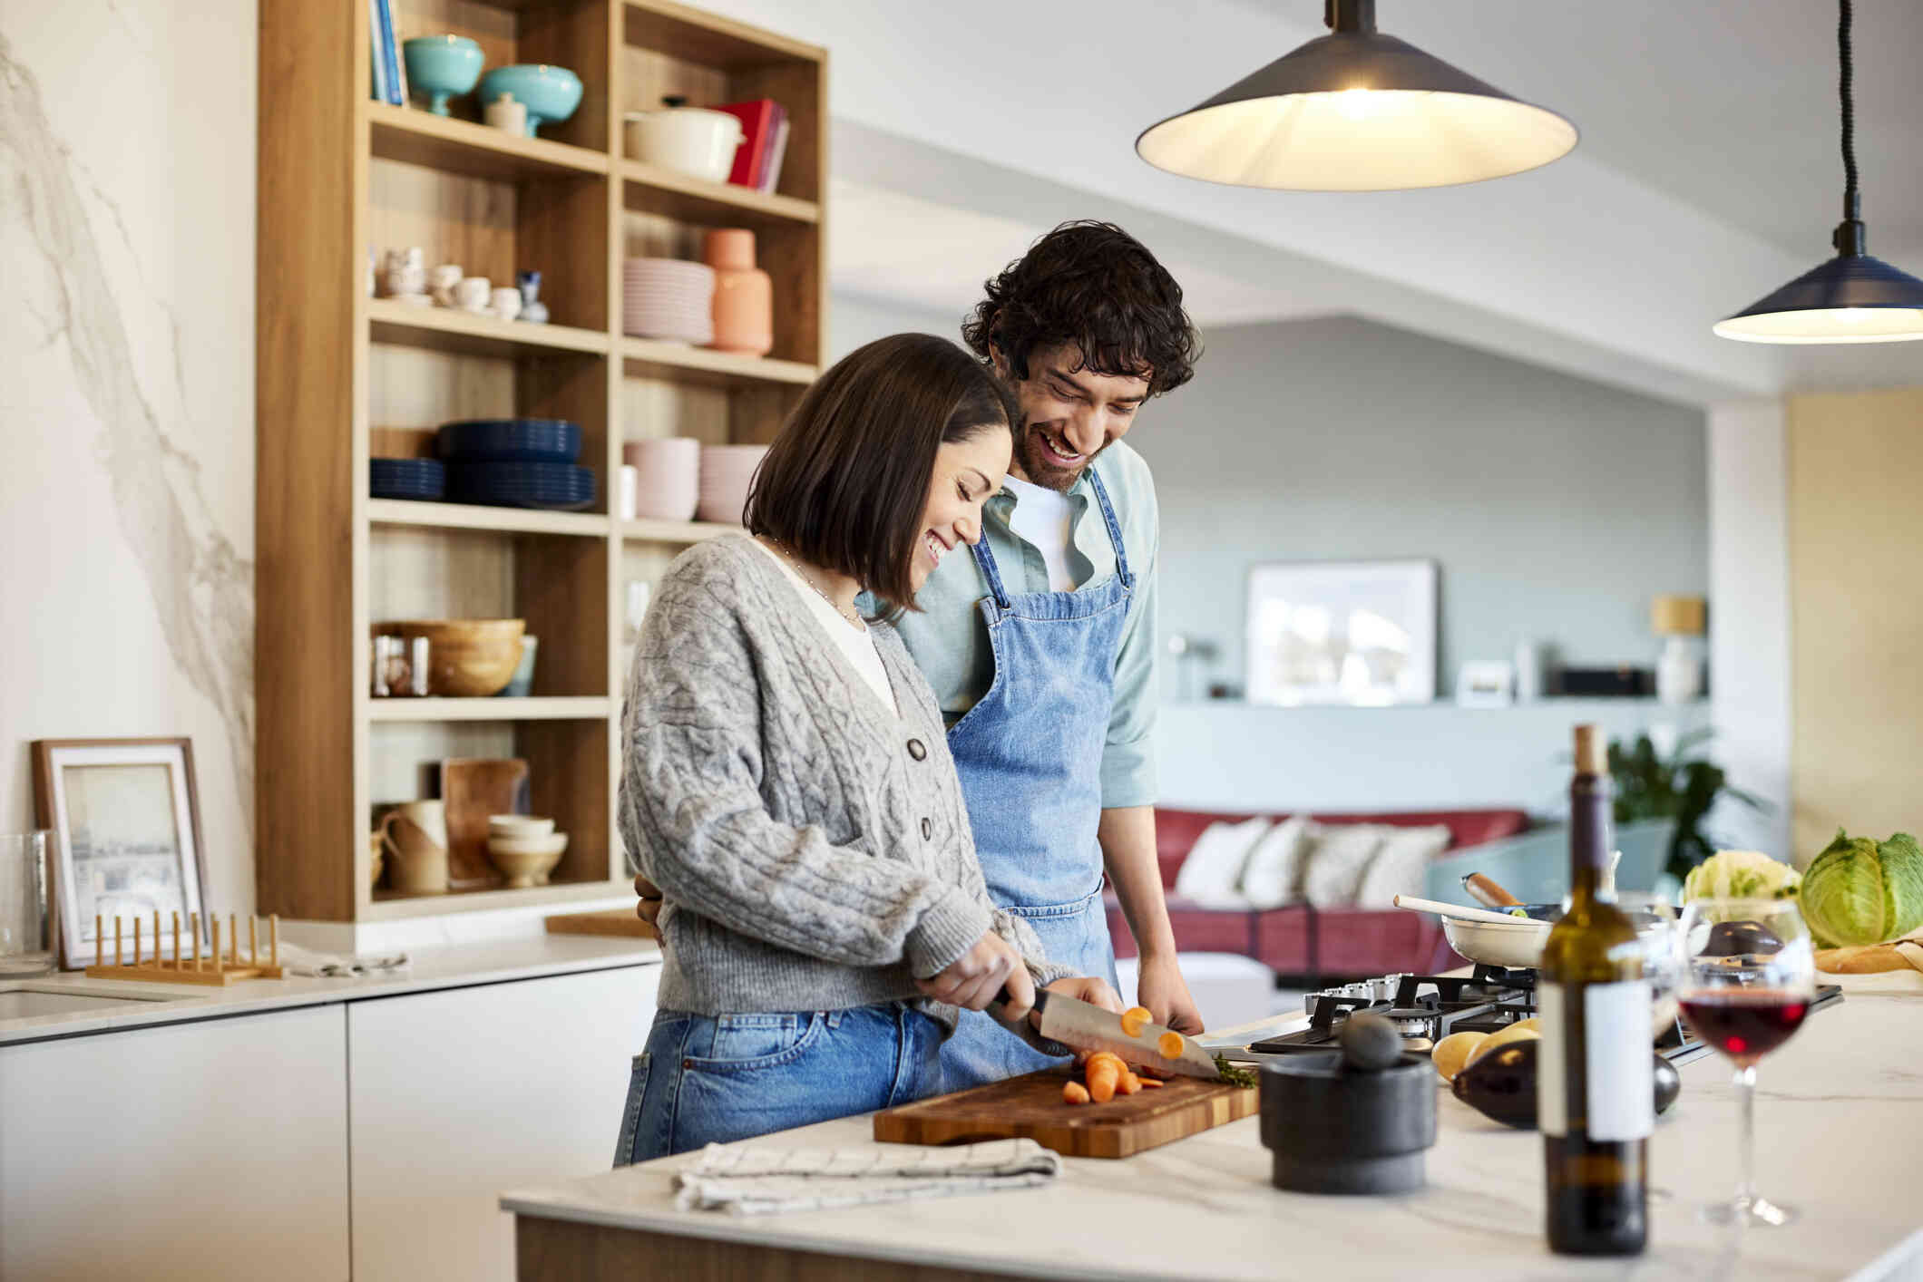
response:
M1923 338L1923 281L1871 258L1856 186L1856 100L1850 63L1850 0L1838 0L1836 96L1842 100L1842 221L1831 233L1836 258L1767 298L1717 321L1738 342L1910 342Z

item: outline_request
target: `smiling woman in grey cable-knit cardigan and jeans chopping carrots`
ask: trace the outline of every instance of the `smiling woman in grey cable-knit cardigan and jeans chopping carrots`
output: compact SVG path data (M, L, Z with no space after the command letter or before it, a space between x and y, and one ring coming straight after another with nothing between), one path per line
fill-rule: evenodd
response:
M621 836L662 888L660 1013L615 1165L940 1090L958 1011L1035 984L1119 1009L988 901L940 709L894 630L981 536L1008 390L929 334L829 369L775 440L746 536L683 554L623 713ZM1015 1032L1019 1028L1019 1032Z

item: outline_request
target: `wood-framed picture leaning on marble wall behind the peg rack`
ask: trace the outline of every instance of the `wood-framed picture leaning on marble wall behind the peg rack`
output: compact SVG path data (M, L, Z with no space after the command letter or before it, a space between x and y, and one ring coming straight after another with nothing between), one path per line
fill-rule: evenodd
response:
M38 826L54 830L63 969L92 963L96 913L106 934L115 917L125 923L127 949L133 919L150 923L156 911L169 926L179 913L183 930L200 913L202 944L210 940L192 740L35 740L33 801ZM142 953L158 957L160 940L142 940Z

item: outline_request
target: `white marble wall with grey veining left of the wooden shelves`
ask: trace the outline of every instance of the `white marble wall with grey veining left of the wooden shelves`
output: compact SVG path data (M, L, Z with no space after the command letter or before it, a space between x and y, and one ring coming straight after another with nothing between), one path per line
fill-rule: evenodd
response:
M252 0L0 6L0 830L27 742L190 736L254 903Z

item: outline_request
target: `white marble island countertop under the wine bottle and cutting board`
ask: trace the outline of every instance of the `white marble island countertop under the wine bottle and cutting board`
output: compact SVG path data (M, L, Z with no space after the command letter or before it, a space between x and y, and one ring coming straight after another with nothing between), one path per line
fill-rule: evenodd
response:
M1650 1251L1627 1261L1552 1255L1542 1138L1498 1126L1446 1090L1429 1186L1390 1197L1275 1190L1252 1117L1125 1161L1065 1159L1056 1184L988 1197L765 1219L677 1211L671 1174L690 1161L681 1155L515 1192L502 1207L1052 1280L1923 1276L1923 996L1850 996L1758 1069L1758 1180L1802 1209L1788 1228L1736 1234L1696 1222L1698 1201L1735 1192L1736 1107L1723 1059L1681 1072L1683 1096L1650 1140ZM779 1136L813 1147L869 1140L865 1115Z

